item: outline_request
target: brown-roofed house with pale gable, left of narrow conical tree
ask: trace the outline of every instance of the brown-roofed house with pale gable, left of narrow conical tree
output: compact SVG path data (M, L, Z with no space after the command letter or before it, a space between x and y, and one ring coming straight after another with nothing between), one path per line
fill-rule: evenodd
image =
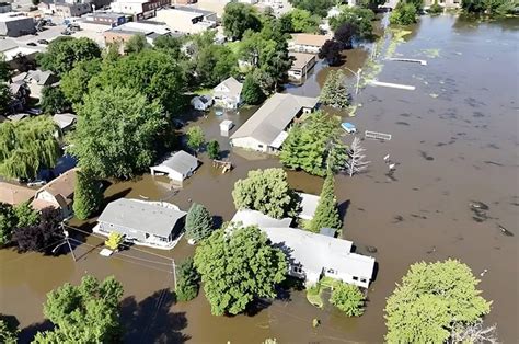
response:
M53 207L61 210L64 218L72 215L73 191L77 169L71 169L42 186L31 203L34 209L43 210Z

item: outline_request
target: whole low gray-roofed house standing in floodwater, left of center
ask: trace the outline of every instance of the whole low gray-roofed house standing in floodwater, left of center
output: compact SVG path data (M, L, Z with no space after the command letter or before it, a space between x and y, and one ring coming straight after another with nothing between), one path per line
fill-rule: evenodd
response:
M94 231L104 236L117 232L136 244L172 249L185 216L172 204L120 198L106 206Z

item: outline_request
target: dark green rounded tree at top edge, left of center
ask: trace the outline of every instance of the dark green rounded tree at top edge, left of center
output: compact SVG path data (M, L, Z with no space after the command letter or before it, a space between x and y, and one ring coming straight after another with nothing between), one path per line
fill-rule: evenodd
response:
M262 28L256 10L250 4L240 2L226 4L222 23L226 36L232 41L241 39L246 30L260 31Z

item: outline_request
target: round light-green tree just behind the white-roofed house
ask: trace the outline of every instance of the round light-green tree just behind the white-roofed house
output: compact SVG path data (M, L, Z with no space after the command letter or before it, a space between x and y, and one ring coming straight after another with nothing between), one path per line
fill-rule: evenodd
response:
M297 197L282 169L249 171L247 177L234 184L232 198L237 209L258 210L274 218L291 215Z

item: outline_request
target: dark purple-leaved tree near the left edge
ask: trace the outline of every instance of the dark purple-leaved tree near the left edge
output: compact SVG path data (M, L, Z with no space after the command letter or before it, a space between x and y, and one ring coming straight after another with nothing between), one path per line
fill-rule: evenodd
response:
M61 210L45 208L39 215L38 223L14 230L13 241L16 242L21 252L49 253L54 249L54 244L58 244L64 238L60 223Z

